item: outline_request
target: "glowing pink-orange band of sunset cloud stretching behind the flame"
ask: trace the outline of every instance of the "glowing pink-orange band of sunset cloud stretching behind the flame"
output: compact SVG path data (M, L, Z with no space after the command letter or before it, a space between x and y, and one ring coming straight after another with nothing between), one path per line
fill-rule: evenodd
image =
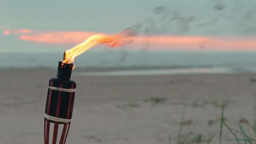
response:
M85 31L36 31L31 29L6 29L4 35L16 35L19 40L34 43L77 45L98 32ZM111 35L111 34L109 34ZM220 50L255 51L256 37L204 37L155 35L131 37L129 48L141 48L149 43L150 49L168 50Z

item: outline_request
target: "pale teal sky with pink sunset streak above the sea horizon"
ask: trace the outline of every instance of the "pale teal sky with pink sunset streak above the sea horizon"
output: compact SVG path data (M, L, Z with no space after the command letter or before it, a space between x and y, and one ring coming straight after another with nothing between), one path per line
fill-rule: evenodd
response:
M0 52L63 51L91 35L115 34L134 24L142 27L138 39L151 35L154 48L256 50L255 5L255 0L0 0Z

